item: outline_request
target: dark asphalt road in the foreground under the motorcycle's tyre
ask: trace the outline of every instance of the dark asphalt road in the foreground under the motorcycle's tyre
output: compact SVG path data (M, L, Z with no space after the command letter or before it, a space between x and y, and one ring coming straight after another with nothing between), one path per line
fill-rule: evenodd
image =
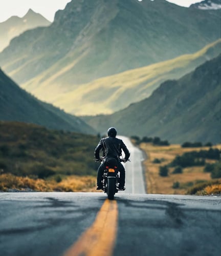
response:
M94 241L96 236L100 241ZM105 249L111 240L112 248ZM104 245L101 254L96 243ZM81 248L85 245L89 248ZM0 193L0 255L220 256L221 200L118 193L107 201L104 193Z

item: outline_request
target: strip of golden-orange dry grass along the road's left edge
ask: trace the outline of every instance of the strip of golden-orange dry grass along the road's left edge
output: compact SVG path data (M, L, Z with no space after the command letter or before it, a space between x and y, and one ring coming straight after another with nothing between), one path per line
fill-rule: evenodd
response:
M0 175L0 190L8 191L15 189L19 191L64 191L64 192L95 192L96 178L93 176L67 176L61 182L54 180L31 179L18 177L11 173Z

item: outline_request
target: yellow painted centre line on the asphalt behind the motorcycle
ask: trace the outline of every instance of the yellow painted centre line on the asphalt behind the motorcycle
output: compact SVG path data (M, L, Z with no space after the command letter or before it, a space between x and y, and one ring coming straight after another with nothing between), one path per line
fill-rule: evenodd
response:
M111 256L118 224L117 201L106 199L95 222L63 256Z

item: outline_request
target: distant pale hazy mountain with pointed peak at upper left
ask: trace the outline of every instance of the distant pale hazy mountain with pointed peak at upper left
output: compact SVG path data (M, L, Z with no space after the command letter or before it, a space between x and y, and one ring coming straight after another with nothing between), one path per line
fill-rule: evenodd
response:
M12 16L7 21L0 23L0 52L6 48L11 39L28 29L49 26L51 22L32 9L24 17Z

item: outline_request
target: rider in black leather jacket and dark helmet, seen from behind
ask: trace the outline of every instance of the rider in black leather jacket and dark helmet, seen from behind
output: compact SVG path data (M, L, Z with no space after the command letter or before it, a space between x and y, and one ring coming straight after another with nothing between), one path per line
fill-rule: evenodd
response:
M125 158L123 162L126 162L129 159L130 152L127 149L126 145L123 143L122 140L117 139L117 130L114 127L111 127L107 130L108 137L105 137L100 140L97 147L95 148L95 159L96 161L100 161L99 152L102 149L104 152L104 156L107 157L115 157L118 160L118 169L120 171L120 179L119 179L119 190L125 190L125 169L123 165L120 163L120 156L122 155L122 149L125 153ZM97 172L97 190L102 189L102 175L104 172L104 163L98 168Z

